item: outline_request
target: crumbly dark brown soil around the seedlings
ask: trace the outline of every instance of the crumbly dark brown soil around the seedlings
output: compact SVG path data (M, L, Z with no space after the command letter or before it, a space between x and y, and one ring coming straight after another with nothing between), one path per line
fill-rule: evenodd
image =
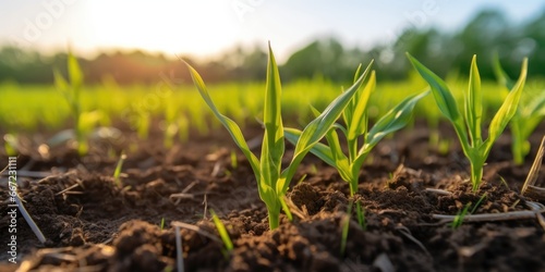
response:
M448 125L441 132L457 141ZM146 140L125 129L118 140L90 143L84 157L68 146L35 151L46 135L28 137L16 162L19 191L47 242L41 244L17 213L17 263L1 250L0 271L182 271L173 221L199 228L180 231L184 271L545 271L545 232L535 218L452 227L433 217L456 215L469 203L473 209L483 194L474 214L529 210L531 199L520 189L545 129L540 132L522 166L510 162L510 139L502 136L475 193L459 146L439 152L428 145L431 132L422 124L375 148L353 198L335 169L308 156L288 194L298 215L289 221L282 214L275 231L247 161L222 128L210 136L192 134L189 143L170 148L158 129ZM244 134L258 140L262 132L253 127ZM292 149L288 145L287 162ZM112 173L121 150L128 158L118 185ZM47 173L27 177L28 172ZM537 182L544 184L544 177L542 170ZM11 235L5 181L0 187L3 246ZM365 224L352 209L341 254L351 201L364 208ZM207 209L227 226L231 252L206 236L219 237Z

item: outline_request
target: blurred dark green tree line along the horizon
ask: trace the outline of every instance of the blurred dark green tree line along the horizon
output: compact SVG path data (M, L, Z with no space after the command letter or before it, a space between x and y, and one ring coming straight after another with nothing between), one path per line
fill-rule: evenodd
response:
M441 33L436 28L407 28L388 45L370 50L346 48L335 38L315 40L299 49L281 65L283 81L325 77L336 82L351 81L359 63L375 59L383 79L407 78L410 64L404 57L410 52L441 76L447 73L468 73L471 57L479 55L484 78L494 78L492 59L498 54L505 70L516 77L522 58L529 57L529 73L545 71L545 11L535 18L512 24L499 11L486 10L473 17L456 33ZM263 81L267 53L255 46L235 47L220 57L192 63L206 82ZM66 53L52 57L14 47L0 50L0 82L50 84L52 67L65 66ZM189 73L179 60L142 51L101 53L93 60L80 59L86 83L96 84L113 78L119 84L156 83L165 77L189 82ZM463 75L463 74L462 74ZM543 74L541 74L543 76Z

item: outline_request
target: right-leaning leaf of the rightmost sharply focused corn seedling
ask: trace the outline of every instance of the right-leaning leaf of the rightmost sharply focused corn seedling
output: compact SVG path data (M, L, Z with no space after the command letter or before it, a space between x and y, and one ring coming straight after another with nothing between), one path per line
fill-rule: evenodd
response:
M524 83L526 81L528 73L528 59L524 59L522 62L522 69L520 72L519 79L517 84L514 84L513 88L507 96L506 100L499 108L498 112L494 116L491 123L491 127L488 128L488 139L486 145L486 150L492 148L492 145L499 135L504 132L504 128L507 126L511 118L517 112L517 107L519 104L520 96L522 94L522 89L524 88Z

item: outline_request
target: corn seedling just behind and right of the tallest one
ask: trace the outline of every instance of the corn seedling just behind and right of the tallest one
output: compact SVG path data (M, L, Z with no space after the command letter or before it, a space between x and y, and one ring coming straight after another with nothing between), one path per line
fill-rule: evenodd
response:
M360 69L358 69L360 70ZM356 72L356 75L359 71ZM387 112L376 124L367 131L367 102L371 92L375 89L375 72L371 73L370 79L363 89L360 89L349 106L342 112L346 127L335 124L327 135L327 145L317 144L311 152L317 156L327 164L339 171L341 178L350 185L350 196L358 191L360 169L370 154L371 150L386 135L402 128L409 122L416 102L425 97L429 91L412 95ZM313 109L315 114L318 112ZM336 129L341 131L347 138L348 156L341 149L341 144ZM302 132L295 128L286 128L286 137L291 143L296 143ZM364 136L363 145L360 145L360 136Z

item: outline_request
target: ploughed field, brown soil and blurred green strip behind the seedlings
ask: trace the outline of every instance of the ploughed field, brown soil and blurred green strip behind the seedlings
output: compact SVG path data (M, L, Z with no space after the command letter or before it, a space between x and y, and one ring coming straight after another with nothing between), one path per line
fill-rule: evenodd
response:
M462 104L468 78L447 84ZM267 87L209 86L254 153L263 148ZM417 74L399 83L378 76L370 124L426 87ZM529 78L520 110L543 89ZM3 84L0 94L0 161L17 156L19 194L47 239L40 243L17 211L17 263L2 254L2 271L182 271L178 254L185 271L545 271L545 200L521 194L545 135L541 119L522 164L513 162L507 126L475 190L457 134L428 95L405 127L371 151L353 195L336 168L306 156L283 198L291 214L282 210L270 230L251 163L191 83L85 86L77 122L55 86ZM284 126L304 128L314 118L311 104L323 111L340 94L326 79L284 84ZM483 82L482 94L487 127L508 91ZM65 131L74 123L88 144L84 152L70 137L74 131ZM280 164L290 164L294 152L287 144ZM544 184L543 170L536 178ZM5 184L2 243L11 237ZM352 209L355 202L361 209Z

